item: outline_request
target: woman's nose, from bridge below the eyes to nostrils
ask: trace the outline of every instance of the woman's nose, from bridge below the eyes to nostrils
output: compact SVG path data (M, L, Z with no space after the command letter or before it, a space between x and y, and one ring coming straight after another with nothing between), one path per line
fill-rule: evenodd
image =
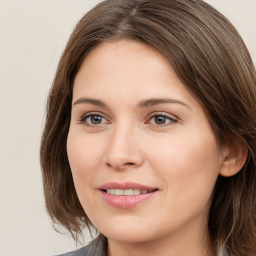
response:
M119 126L109 138L105 162L116 170L137 168L143 164L141 137L135 127Z

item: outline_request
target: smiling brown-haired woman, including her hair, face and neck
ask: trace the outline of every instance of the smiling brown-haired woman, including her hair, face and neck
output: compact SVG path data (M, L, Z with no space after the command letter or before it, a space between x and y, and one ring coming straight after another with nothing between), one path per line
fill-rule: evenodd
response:
M201 0L106 0L77 23L49 93L46 207L66 255L256 255L256 73Z

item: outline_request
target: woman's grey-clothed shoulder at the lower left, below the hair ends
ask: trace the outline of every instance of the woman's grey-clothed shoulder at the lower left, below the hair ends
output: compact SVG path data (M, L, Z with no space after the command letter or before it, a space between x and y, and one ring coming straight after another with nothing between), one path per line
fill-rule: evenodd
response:
M106 244L106 238L100 235L84 247L56 256L106 256Z

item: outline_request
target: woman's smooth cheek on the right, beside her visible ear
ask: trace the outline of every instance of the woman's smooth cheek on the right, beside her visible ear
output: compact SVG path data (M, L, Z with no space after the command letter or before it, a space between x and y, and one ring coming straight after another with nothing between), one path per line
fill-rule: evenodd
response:
M154 150L148 157L150 164L157 166L158 174L173 194L211 194L220 168L213 134L173 136L151 148Z

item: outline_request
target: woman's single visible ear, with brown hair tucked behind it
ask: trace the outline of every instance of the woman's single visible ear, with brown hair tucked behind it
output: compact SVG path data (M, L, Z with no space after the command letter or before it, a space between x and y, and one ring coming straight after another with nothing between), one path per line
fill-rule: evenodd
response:
M219 174L224 177L236 174L244 165L247 155L247 147L242 141L232 141L229 146L223 147Z

